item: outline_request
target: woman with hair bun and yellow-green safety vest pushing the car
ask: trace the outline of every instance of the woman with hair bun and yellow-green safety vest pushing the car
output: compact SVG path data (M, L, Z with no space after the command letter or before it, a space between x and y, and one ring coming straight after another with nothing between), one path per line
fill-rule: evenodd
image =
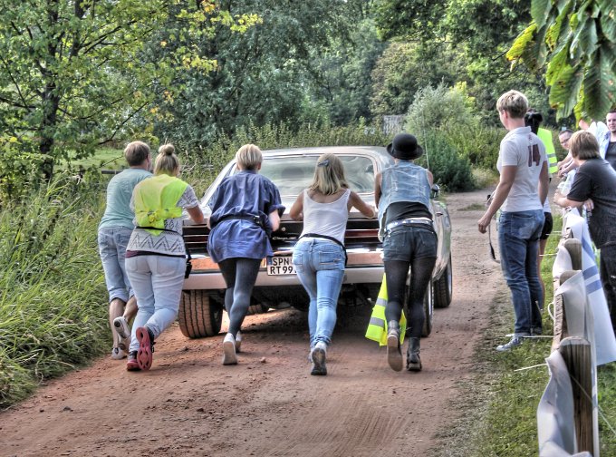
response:
M195 191L178 174L175 148L160 146L154 176L135 187L130 201L135 229L126 250L126 270L139 310L130 335L129 371L149 370L154 340L178 316L186 271L182 209L197 224L204 222Z

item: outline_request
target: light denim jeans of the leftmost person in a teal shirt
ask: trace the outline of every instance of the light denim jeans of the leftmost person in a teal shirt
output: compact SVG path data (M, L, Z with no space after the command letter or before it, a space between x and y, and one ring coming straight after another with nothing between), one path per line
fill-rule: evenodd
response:
M109 301L120 298L124 303L133 296L129 277L124 266L126 246L129 244L132 228L111 227L99 230L99 254L102 269L105 272L105 283L109 292Z

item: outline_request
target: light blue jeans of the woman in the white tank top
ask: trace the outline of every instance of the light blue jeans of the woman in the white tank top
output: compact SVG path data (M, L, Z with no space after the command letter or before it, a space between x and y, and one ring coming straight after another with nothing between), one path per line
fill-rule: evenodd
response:
M336 306L344 277L344 250L333 241L310 238L295 245L293 264L310 297L310 346L332 342Z

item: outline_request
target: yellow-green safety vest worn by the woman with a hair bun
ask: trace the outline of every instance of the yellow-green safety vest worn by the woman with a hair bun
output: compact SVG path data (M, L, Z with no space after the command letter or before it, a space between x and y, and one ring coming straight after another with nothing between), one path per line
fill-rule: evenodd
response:
M165 228L165 219L179 218L182 209L178 208L178 201L187 187L188 183L166 174L142 180L133 192L137 226ZM162 233L147 231L155 237Z

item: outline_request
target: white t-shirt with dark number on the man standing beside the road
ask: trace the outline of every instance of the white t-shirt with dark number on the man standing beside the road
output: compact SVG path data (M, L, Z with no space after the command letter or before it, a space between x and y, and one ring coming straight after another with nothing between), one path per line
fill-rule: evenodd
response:
M508 212L543 209L539 201L539 175L547 161L543 141L530 127L518 127L509 131L501 141L496 168L516 167L514 184L501 209Z

